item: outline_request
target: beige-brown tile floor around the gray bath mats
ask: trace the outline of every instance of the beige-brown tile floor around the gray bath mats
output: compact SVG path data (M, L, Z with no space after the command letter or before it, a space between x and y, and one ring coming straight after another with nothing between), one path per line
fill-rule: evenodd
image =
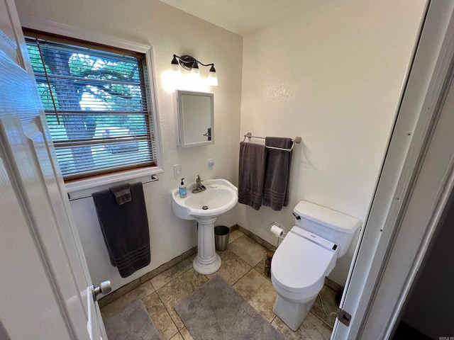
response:
M266 251L264 246L237 229L229 237L228 249L218 252L222 266L216 273L196 273L192 268L192 259L196 256L193 255L102 307L101 314L109 317L129 302L140 298L162 339L192 339L174 307L213 276L220 275L287 339L329 339L335 317L327 317L323 313L319 297L295 332L272 312L276 292L271 280L263 275ZM326 312L336 311L336 292L325 285L321 295Z

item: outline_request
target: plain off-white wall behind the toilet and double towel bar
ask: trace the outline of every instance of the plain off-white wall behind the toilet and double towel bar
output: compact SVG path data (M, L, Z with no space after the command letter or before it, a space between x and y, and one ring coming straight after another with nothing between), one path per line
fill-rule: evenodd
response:
M240 136L301 136L289 206L238 206L238 224L276 243L299 200L365 222L426 1L336 1L243 42ZM257 140L255 140L257 142ZM353 254L329 276L343 285Z

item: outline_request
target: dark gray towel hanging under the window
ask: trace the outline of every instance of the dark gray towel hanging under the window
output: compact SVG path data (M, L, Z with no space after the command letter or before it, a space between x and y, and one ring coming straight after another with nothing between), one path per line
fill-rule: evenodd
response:
M142 183L131 184L131 201L118 205L110 190L93 193L112 266L122 278L150 264L150 233Z

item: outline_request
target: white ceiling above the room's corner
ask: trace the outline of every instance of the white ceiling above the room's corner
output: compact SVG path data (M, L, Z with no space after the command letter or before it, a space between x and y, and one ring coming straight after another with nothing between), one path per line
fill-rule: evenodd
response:
M184 12L248 35L338 0L160 0Z

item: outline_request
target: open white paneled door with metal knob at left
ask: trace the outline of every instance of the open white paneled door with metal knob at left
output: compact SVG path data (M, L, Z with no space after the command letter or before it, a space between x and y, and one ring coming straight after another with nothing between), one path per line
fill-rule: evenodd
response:
M0 0L0 339L106 339L49 136L16 6Z

